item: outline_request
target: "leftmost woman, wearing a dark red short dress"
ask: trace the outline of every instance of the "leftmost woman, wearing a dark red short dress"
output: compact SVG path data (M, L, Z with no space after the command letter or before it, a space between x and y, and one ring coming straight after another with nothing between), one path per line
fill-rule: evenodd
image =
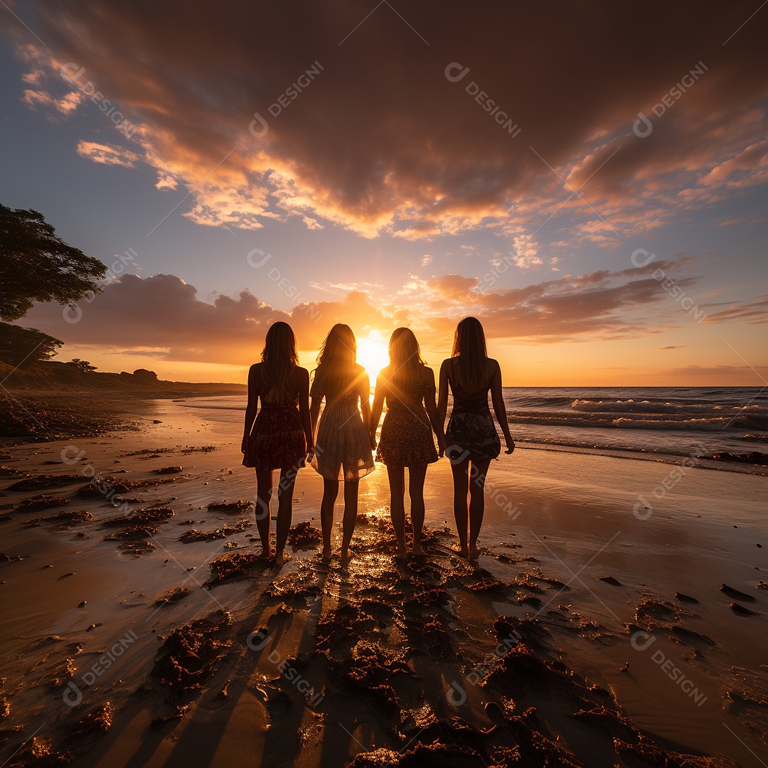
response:
M296 336L287 323L273 323L266 332L261 361L248 372L248 406L243 428L243 465L256 469L256 521L262 558L269 558L272 471L280 469L277 488L275 564L284 562L293 512L293 485L312 450L310 374L299 367ZM261 401L261 409L257 406Z

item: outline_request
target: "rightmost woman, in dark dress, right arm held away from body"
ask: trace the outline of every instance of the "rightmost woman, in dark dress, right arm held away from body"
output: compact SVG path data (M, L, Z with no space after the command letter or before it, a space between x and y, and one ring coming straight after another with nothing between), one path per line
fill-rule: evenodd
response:
M487 356L485 333L475 317L465 317L458 323L452 356L444 360L440 367L438 413L441 425L445 424L449 386L453 395L453 410L445 431L445 442L449 445L446 453L451 459L453 471L453 515L461 543L459 554L475 561L479 554L477 538L485 511L485 475L491 459L502 450L488 409L488 390L496 419L507 442L506 453L515 450L502 397L502 370L498 362Z

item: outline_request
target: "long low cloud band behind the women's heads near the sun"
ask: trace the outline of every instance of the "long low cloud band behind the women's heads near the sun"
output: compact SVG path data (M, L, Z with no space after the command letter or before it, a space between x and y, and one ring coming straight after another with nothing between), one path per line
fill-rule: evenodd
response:
M407 325L425 347L442 349L456 321L466 315L482 320L489 339L526 344L631 339L687 323L687 315L651 274L661 266L665 273L677 274L677 285L690 291L698 282L695 274L686 276L691 262L690 257L654 261L503 290L494 290L488 276L459 274L413 278L407 289L389 297L380 295L381 286L349 283L336 286L346 292L339 299L309 304L301 299L291 310L276 309L248 290L236 297L218 294L207 302L178 276L144 279L128 274L106 284L91 302L81 302L78 322L65 319L75 316L71 310L47 303L35 305L23 324L80 346L117 353L144 349L169 361L232 365L256 359L266 329L276 320L293 326L305 351L318 349L334 323L348 323L361 335ZM763 298L756 303L761 311L766 302ZM713 317L714 322L752 322L756 310L751 305L740 310L715 313L708 322Z

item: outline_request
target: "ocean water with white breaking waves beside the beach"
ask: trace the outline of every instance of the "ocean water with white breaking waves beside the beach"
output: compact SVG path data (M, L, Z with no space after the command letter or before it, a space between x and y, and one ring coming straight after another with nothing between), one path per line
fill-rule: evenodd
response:
M521 448L691 457L702 466L768 474L768 387L505 387L503 395ZM180 402L227 422L242 420L245 403L245 396Z

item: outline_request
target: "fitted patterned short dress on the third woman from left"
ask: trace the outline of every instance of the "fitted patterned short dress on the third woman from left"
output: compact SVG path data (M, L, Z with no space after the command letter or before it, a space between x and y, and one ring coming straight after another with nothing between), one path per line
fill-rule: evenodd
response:
M432 426L424 409L424 396L434 393L429 382L400 397L387 395L376 461L388 467L424 467L437 461ZM434 399L434 394L432 394Z

